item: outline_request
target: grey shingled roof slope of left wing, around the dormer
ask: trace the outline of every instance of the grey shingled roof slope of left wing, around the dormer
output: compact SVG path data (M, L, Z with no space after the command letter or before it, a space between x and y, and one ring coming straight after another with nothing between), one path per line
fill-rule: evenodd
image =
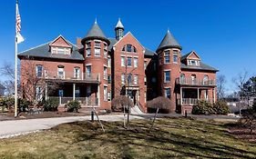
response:
M46 57L46 58L56 58L56 59L69 59L69 60L85 60L83 55L78 52L76 45L73 45L67 42L69 45L72 45L71 55L52 55L50 52L50 46L52 42L48 42L45 45L38 45L34 48L28 49L24 52L18 54L18 57L22 56L31 56L31 57Z

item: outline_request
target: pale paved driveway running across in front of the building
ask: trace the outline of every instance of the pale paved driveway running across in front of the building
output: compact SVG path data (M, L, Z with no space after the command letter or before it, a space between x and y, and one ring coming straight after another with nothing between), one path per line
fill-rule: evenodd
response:
M147 119L152 118L154 114L135 114L130 115L130 119ZM158 114L157 117L180 117L184 116L182 114ZM188 116L195 118L204 119L228 119L228 120L238 120L238 117L227 116L227 115L192 115ZM123 121L124 116L122 114L109 114L100 115L100 120L103 121ZM29 134L37 131L42 131L44 129L49 129L56 126L57 124L71 123L77 121L90 120L90 116L71 116L71 117L55 117L55 118L40 118L40 119L25 119L25 120L9 120L0 121L0 139L12 137L15 135ZM96 120L96 116L95 116Z

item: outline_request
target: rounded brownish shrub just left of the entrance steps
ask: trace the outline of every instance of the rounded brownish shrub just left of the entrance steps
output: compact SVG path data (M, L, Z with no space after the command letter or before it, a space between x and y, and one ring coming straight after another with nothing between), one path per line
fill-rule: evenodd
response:
M124 110L124 107L128 110L128 106L133 107L133 102L125 95L116 96L111 102L111 109L114 112L120 112Z

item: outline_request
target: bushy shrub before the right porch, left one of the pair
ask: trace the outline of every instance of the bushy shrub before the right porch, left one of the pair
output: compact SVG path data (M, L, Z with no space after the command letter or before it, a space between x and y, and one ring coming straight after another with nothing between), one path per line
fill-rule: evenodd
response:
M192 114L215 114L213 104L207 101L199 101L198 105L194 105Z

